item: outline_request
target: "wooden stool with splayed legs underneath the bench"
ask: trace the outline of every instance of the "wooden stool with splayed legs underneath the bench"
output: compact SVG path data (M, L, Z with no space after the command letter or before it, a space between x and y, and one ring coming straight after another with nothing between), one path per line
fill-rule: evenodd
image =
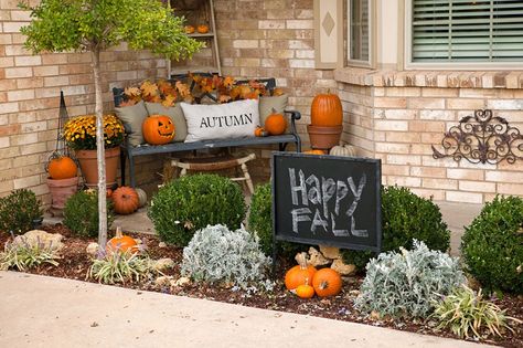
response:
M255 159L256 155L249 154L245 157L231 158L231 157L217 157L217 158L205 158L205 159L172 159L171 166L180 168L180 177L186 175L188 170L198 171L213 171L221 169L230 169L239 167L243 172L243 177L231 178L233 181L245 181L250 194L254 193L253 180L247 170L247 162Z

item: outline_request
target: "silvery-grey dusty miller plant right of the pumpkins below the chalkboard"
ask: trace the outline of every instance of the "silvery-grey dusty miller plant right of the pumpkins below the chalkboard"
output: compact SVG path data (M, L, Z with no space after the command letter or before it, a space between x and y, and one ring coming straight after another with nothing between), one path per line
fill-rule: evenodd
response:
M426 317L439 295L466 282L458 259L414 241L414 249L382 253L366 266L355 306L381 315Z

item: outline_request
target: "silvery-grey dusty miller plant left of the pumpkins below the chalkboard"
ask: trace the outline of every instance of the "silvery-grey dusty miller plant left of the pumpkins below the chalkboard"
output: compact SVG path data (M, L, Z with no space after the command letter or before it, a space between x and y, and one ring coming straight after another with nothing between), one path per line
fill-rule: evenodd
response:
M244 289L265 284L270 259L259 249L258 238L241 228L207 225L196 231L183 249L181 272L196 282L221 283Z

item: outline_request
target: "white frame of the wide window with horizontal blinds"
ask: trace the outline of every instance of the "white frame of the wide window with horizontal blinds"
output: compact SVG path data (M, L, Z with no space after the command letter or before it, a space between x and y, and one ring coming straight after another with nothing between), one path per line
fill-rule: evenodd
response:
M405 0L405 68L406 70L523 70L522 62L413 62L413 0Z

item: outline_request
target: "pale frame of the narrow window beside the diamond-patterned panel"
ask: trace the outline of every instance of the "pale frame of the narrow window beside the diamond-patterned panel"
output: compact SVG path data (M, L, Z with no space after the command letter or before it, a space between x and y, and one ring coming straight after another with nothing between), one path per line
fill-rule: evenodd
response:
M345 1L346 13L346 48L345 65L355 67L375 68L376 66L376 0L363 0L369 2L369 61L351 60L351 0Z

